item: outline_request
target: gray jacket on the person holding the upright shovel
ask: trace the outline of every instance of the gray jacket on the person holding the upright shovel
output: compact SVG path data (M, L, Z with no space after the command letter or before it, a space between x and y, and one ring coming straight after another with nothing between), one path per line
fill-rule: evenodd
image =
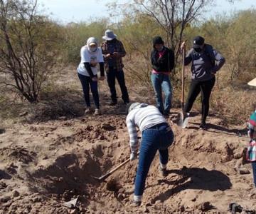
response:
M191 63L192 80L208 81L225 63L225 58L212 46L205 44L203 51L197 53L194 49L188 51L185 66Z

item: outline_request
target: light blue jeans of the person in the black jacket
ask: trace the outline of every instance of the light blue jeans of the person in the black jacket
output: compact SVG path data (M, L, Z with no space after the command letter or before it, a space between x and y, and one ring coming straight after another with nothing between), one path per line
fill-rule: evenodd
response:
M156 106L163 114L168 114L171 109L172 89L169 75L162 73L152 73L151 82L156 93ZM163 104L162 90L164 91L165 101Z

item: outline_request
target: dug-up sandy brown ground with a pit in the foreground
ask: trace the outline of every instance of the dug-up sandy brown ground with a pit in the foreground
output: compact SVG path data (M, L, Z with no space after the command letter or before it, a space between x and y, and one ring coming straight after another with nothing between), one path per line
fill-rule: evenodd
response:
M75 78L75 77L74 77ZM107 86L101 99L109 101ZM134 101L136 95L132 95ZM82 99L82 97L81 97ZM149 99L149 101L151 101ZM60 117L16 123L0 132L0 213L229 213L230 203L256 209L250 164L240 174L245 127L223 125L210 115L208 131L192 113L188 128L176 126L178 109L167 118L175 134L169 148L169 175L151 165L142 206L131 204L137 161L100 177L129 158L125 106L103 106L101 116ZM26 116L24 116L26 117ZM75 208L63 203L78 198Z

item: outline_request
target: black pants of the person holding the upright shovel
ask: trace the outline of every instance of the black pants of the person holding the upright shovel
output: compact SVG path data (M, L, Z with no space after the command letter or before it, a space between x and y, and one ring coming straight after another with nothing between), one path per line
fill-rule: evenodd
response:
M191 85L188 92L188 98L186 100L186 104L184 107L184 112L191 111L194 101L196 97L201 91L201 102L202 102L202 121L201 123L206 123L206 117L209 113L209 101L210 101L210 93L213 89L215 83L215 77L211 78L208 81L191 81Z

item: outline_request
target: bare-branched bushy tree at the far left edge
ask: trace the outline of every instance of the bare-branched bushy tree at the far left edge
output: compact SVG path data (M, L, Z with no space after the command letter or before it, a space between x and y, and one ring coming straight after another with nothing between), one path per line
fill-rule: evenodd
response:
M56 63L58 39L37 1L0 0L0 82L36 102Z

